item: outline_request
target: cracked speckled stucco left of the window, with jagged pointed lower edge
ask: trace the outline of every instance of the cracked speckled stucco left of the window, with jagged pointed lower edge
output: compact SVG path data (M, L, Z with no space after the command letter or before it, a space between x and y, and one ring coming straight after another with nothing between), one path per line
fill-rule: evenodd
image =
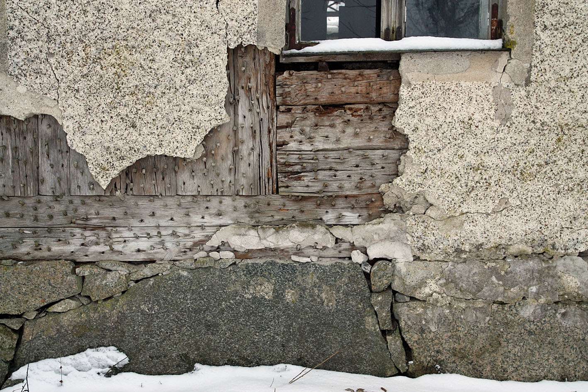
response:
M143 156L192 157L228 120L227 46L279 52L284 10L285 0L2 0L0 113L55 116L103 187Z

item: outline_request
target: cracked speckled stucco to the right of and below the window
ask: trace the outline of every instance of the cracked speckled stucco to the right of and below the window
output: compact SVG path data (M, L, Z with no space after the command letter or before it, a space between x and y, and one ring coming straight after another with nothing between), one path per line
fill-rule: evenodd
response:
M396 126L409 151L381 190L409 213L421 259L588 249L588 4L520 9L531 5L533 42L513 27L524 61L532 48L528 81L506 52L402 56Z

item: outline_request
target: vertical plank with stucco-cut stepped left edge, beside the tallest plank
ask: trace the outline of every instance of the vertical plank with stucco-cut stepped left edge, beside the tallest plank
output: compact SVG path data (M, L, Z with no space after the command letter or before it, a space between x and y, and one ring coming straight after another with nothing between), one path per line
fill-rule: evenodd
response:
M225 109L230 117L228 123L211 130L205 136L203 155L198 159L176 159L176 181L178 195L234 195L235 190L235 68L233 52L228 51L227 75L229 89Z

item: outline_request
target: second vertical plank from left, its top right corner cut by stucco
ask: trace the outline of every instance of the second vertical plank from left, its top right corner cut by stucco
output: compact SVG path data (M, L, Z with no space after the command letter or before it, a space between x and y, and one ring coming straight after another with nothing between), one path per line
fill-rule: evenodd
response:
M39 115L39 195L69 195L69 146L55 118Z

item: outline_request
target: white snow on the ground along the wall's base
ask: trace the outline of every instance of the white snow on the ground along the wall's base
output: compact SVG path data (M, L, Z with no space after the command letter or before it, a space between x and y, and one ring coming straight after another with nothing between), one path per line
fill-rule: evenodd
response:
M120 361L120 362L119 362ZM588 381L560 383L519 383L431 374L419 378L380 378L336 371L313 370L292 384L288 381L303 370L300 366L258 367L203 366L178 376L144 376L120 373L103 377L116 363L126 364L125 354L115 347L88 349L62 359L46 359L30 364L29 392L345 392L363 388L365 392L588 392ZM62 366L63 376L59 366ZM516 364L513 364L516 366ZM11 379L24 378L26 366ZM59 383L63 377L63 385ZM0 392L21 391L22 383Z

